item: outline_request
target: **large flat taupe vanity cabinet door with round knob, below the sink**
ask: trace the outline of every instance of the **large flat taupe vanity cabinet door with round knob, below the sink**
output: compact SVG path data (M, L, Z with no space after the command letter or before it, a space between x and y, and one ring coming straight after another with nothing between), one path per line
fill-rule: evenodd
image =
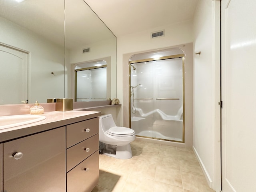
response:
M3 143L3 190L65 192L65 131L61 127Z

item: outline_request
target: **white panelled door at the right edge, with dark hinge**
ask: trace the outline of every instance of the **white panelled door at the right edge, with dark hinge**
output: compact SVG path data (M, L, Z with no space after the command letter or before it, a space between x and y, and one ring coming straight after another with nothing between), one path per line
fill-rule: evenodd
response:
M256 1L222 0L222 192L256 192Z

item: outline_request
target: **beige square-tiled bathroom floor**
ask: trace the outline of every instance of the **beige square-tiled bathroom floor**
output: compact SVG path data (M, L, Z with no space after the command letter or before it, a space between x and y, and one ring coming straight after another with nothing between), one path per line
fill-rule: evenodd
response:
M131 143L128 160L100 155L100 179L92 192L213 192L192 149Z

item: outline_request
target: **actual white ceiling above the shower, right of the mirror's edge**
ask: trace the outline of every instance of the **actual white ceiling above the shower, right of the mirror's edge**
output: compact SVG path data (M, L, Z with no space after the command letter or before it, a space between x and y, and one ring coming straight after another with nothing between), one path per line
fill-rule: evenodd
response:
M198 3L198 0L84 1L116 36L191 20Z

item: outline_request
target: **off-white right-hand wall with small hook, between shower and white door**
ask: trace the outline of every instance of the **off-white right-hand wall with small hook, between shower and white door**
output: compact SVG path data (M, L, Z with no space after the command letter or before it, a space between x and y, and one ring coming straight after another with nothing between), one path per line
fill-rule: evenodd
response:
M220 1L200 0L194 16L193 149L211 188L220 191Z

